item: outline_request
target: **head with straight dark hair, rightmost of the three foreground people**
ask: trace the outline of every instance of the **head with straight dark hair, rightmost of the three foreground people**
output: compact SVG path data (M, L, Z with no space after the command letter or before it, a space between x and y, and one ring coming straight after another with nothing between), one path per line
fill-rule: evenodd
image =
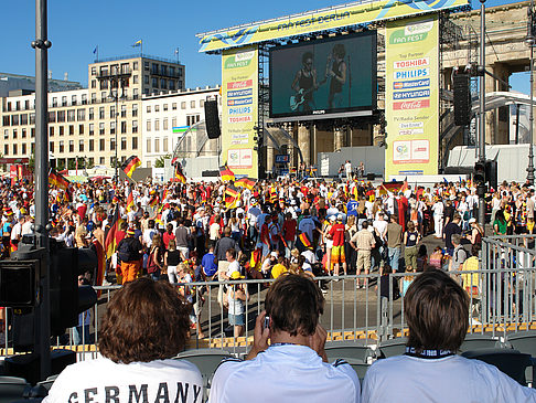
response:
M457 351L469 327L469 297L441 271L428 271L409 286L404 298L408 346L417 351Z

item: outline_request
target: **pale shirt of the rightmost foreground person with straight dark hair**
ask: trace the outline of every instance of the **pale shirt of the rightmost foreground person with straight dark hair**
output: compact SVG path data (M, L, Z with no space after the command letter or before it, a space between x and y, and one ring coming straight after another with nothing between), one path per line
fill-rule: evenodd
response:
M397 356L368 369L362 397L364 403L534 403L536 390L523 388L493 365L461 356Z

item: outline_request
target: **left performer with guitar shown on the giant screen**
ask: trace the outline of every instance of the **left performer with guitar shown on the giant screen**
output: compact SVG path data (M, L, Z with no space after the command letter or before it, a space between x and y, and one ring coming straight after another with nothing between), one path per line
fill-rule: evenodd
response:
M315 108L313 92L319 87L317 83L317 70L313 67L313 54L305 52L301 56L302 67L296 73L292 89L296 94L290 97L292 110L308 112Z

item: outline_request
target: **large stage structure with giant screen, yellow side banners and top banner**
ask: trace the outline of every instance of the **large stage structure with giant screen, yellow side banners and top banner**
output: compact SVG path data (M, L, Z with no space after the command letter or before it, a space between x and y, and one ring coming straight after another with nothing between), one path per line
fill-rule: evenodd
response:
M200 52L222 55L222 162L262 178L267 123L335 135L366 123L385 130L385 177L437 173L442 17L469 9L361 1L197 34Z

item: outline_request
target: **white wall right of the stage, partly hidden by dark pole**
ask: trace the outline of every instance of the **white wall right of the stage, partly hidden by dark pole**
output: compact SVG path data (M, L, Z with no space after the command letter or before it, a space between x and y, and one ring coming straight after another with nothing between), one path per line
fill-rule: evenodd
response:
M529 145L496 145L486 146L485 156L487 159L497 161L497 180L516 181L524 183L527 179ZM536 148L533 146L533 152ZM449 167L473 167L476 161L473 147L454 147L449 153Z

